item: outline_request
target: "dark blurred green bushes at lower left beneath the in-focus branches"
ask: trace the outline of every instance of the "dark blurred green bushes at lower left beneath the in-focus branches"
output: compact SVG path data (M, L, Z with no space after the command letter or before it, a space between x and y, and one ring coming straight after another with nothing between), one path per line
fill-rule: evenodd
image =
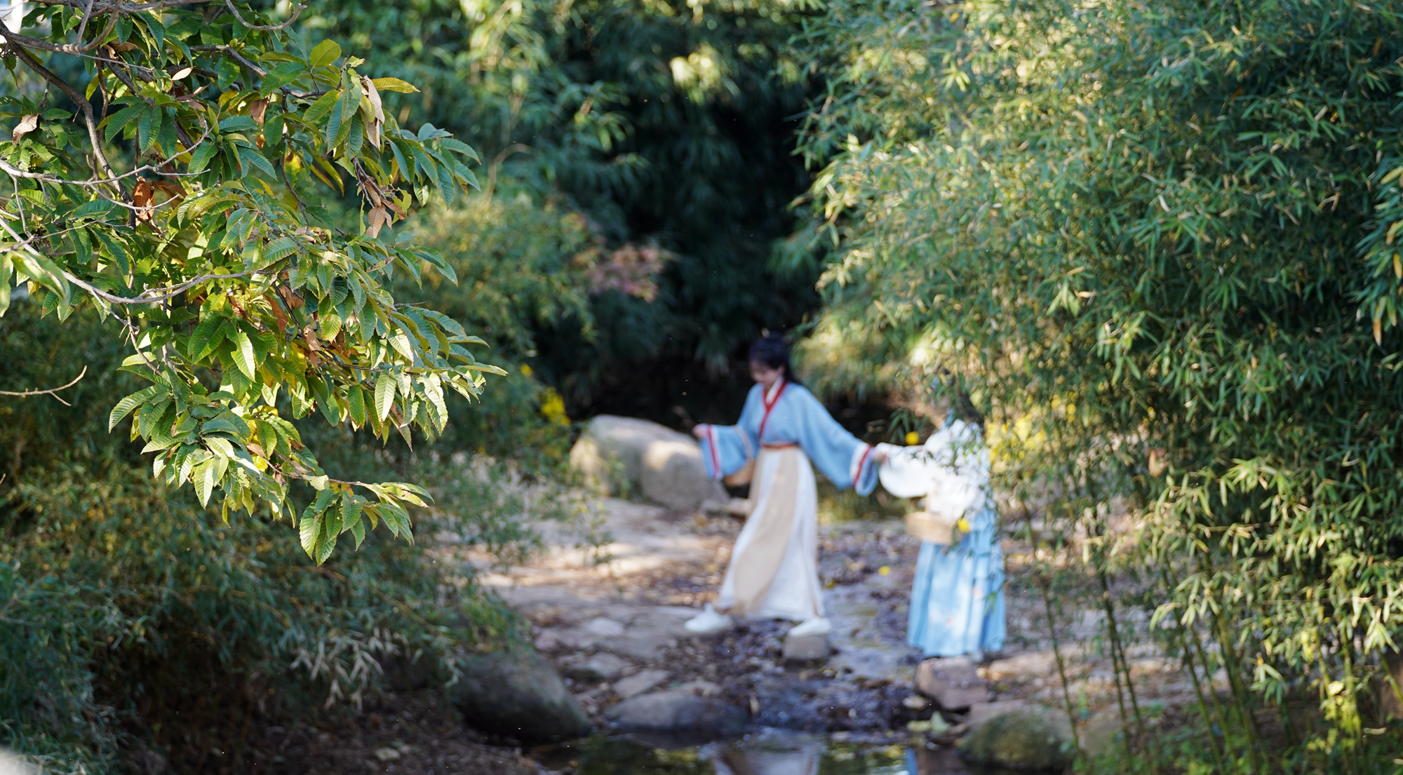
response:
M250 717L358 703L382 687L380 668L410 658L449 681L456 649L515 636L513 615L469 569L428 562L431 542L368 536L317 566L286 524L224 524L188 489L153 482L137 449L107 432L102 397L135 382L115 371L125 352L105 336L114 324L84 312L59 324L38 307L20 299L0 320L0 379L43 380L55 352L81 358L91 376L65 392L72 407L11 399L0 424L7 747L60 772L121 771L143 747L194 771L210 750L237 753ZM499 469L434 463L345 432L316 437L328 466L428 484L435 508L415 510L421 539L448 531L504 557L535 545L525 493ZM533 512L563 517L543 496Z

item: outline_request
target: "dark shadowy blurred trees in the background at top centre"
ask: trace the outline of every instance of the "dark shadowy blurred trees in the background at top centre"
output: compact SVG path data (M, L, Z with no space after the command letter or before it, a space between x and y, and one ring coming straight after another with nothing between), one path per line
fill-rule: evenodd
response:
M560 216L586 215L606 253L668 251L655 296L596 289L588 317L537 324L532 365L572 407L676 421L673 403L704 406L696 382L734 389L716 378L739 348L817 305L811 257L770 267L808 180L786 41L815 8L424 0L314 3L304 20L421 86L386 111L471 142L490 188L563 197Z

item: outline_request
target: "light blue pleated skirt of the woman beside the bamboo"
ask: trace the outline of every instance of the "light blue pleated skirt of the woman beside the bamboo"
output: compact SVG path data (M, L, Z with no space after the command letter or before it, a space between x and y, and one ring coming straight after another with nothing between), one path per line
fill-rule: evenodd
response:
M927 657L1003 649L1003 549L992 510L955 546L920 545L906 643Z

